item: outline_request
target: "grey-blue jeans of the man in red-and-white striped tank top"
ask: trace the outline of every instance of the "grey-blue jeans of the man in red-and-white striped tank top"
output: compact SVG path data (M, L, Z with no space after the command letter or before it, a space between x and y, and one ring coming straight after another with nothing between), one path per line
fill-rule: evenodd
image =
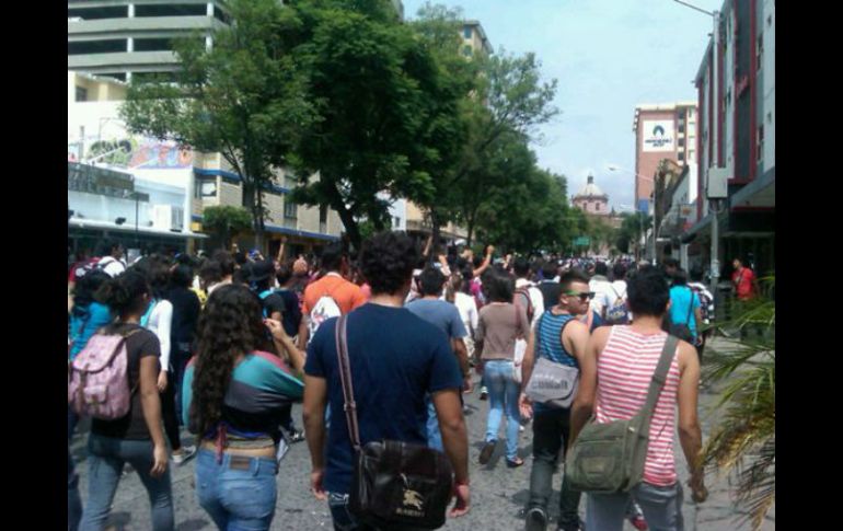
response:
M624 517L632 499L638 503L650 529L659 531L683 531L682 485L677 482L669 487L640 483L632 493L588 494L586 526L600 531L621 531Z

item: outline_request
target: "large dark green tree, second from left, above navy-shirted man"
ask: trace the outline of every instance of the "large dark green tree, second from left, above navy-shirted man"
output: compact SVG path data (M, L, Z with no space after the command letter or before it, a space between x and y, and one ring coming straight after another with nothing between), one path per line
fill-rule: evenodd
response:
M424 199L442 157L437 135L458 143L441 119L447 79L415 32L386 13L389 2L297 1L308 38L295 54L309 72L307 97L319 119L296 148L297 201L335 209L355 246L359 223L388 227L385 194ZM438 102L437 102L438 100ZM307 175L319 171L319 180Z

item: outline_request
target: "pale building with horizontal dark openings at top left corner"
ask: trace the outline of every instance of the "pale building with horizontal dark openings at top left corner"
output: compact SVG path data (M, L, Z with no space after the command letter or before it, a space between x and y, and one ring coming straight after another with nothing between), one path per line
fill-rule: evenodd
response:
M68 70L128 81L177 68L172 41L203 38L229 23L222 0L68 0Z

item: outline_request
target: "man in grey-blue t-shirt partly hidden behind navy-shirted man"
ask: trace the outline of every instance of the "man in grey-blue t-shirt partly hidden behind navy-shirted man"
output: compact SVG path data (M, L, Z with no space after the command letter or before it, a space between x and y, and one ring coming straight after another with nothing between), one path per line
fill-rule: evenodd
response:
M471 392L471 367L469 366L469 349L464 337L469 335L460 318L460 311L448 301L439 299L444 288L444 275L439 269L428 267L418 276L420 299L407 304L407 310L441 330L453 347L463 377L463 389ZM439 432L439 422L436 417L434 403L427 404L427 446L442 451L442 435Z

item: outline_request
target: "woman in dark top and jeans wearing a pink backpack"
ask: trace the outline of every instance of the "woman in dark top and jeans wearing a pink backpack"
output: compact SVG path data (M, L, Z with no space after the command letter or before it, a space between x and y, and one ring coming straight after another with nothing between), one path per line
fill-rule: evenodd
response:
M126 371L132 393L126 416L116 420L94 418L91 423L88 505L80 529L104 529L123 466L129 463L149 495L152 530L172 531L173 495L158 392L161 347L155 334L139 324L151 300L150 287L142 275L128 270L106 281L96 298L118 315L103 332L126 337Z

